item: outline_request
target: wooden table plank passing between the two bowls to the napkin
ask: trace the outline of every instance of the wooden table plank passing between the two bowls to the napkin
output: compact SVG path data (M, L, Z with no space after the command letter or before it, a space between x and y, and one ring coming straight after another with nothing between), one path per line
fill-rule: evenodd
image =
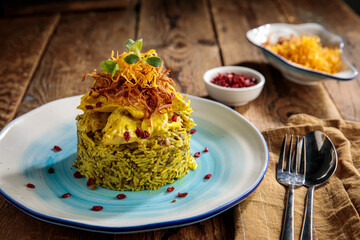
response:
M290 115L300 112L320 118L341 117L321 84L305 87L287 81L247 41L245 33L253 27L289 21L277 1L210 2L224 65L248 66L262 72L266 78L260 97L246 106L237 107L237 111L260 130L283 126ZM317 101L313 101L313 96L318 96Z

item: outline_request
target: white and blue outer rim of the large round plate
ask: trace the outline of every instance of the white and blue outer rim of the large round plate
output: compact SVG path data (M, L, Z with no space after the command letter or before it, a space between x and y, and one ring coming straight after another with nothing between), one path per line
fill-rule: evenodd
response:
M59 217L53 217L47 214L43 214L40 212L37 212L35 210L32 210L29 207L26 207L24 205L22 205L21 203L17 202L15 199L13 199L9 194L7 194L6 192L4 192L1 188L0 188L0 195L2 195L5 200L7 200L9 203L11 203L12 205L14 205L15 207L17 207L19 210L21 210L22 212L45 222L49 222L52 224L57 224L57 225L61 225L61 226L65 226L65 227L72 227L72 228L77 228L77 229L82 229L82 230L89 230L89 231L96 231L96 232L104 232L104 233L135 233L135 232L144 232L144 231L154 231L154 230L159 230L159 229L167 229L167 228L174 228L174 227L181 227L181 226L186 226L186 225L190 225L190 224L195 224L198 223L200 221L204 221L207 220L211 217L214 217L232 207L234 207L235 205L239 204L240 202L242 202L243 200L245 200L248 196L251 195L251 193L253 193L257 187L260 185L260 183L262 182L262 180L264 179L264 176L267 172L268 166L269 166L269 149L267 146L267 143L265 141L264 136L261 134L261 132L255 127L255 125L253 123L251 123L249 120L247 120L244 116L242 116L240 113L238 113L237 111L233 110L232 108L221 104L219 102L213 101L213 100L209 100L209 99L205 99L205 98L201 98L201 97L197 97L197 96L193 96L190 94L186 94L187 95L187 100L192 101L193 99L198 100L198 101L205 101L208 102L210 104L216 104L219 107L222 107L224 109L227 109L228 111L233 112L234 114L236 114L238 117L240 117L242 120L244 120L247 124L249 124L253 130L257 133L258 137L260 137L261 142L263 143L264 150L265 150L265 164L263 165L263 169L261 170L261 175L259 176L258 180L255 181L252 186L247 190L244 191L241 195L221 204L220 206L210 209L209 211L206 211L202 214L197 214L196 216L191 216L191 217L185 217L185 218L181 218L181 219L176 219L176 220L170 220L170 221L162 221L162 222L157 222L157 223L150 223L150 224L141 224L141 225L134 225L134 226L125 226L125 227L107 227L107 226L99 226L99 225L92 225L92 224L86 224L86 223L81 223L81 222L77 222L77 221L73 221L73 220L69 220L69 219L62 219ZM53 104L55 102L58 101L64 101L64 100L71 100L71 99L75 99L75 98L79 98L82 95L77 95L77 96L71 96L71 97L65 97L65 98L60 98L60 99L56 99L53 101L50 101L48 103L45 103L17 118L15 118L14 120L10 121L1 131L0 131L0 140L6 135L7 131L9 131L13 126L15 126L17 124L18 121L21 121L23 118L25 118L27 115L29 114L36 114L36 112L41 111L42 108L44 108L45 106L49 105L49 104Z

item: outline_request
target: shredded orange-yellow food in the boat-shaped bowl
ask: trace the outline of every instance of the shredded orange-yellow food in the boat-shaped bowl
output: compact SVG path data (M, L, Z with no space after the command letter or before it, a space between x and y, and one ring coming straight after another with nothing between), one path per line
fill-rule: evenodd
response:
M276 44L266 42L264 45L287 60L310 69L333 74L343 67L340 49L322 46L318 36L291 36Z

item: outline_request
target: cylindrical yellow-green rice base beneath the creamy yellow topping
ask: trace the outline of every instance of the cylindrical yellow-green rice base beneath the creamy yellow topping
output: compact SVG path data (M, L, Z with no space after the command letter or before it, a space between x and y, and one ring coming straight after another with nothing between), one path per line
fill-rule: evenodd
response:
M78 120L81 118L78 116ZM77 131L74 166L87 179L94 178L97 185L111 190L158 189L197 166L190 154L190 133L185 129L152 136L145 144L107 146L102 137L101 131L95 134Z

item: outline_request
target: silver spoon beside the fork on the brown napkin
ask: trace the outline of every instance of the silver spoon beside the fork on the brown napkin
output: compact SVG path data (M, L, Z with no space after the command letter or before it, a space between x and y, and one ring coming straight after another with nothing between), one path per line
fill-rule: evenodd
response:
M315 187L325 183L335 172L338 158L334 144L323 132L306 134L305 144L305 186L308 187L301 239L312 239L312 215Z

